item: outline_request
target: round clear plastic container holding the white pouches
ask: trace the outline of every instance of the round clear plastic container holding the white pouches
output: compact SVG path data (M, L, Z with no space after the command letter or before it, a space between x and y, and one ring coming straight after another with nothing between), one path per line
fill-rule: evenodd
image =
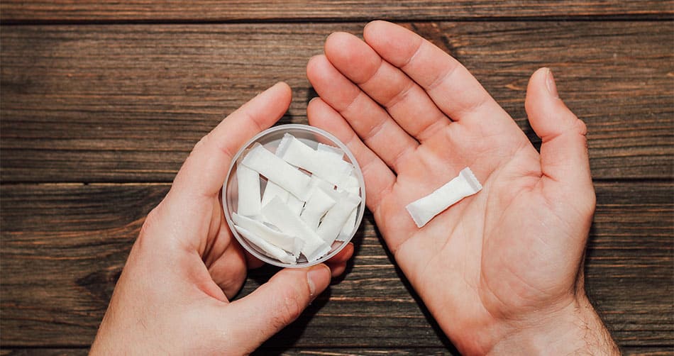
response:
M295 138L301 140L303 143L306 143L306 145L309 145L311 148L314 149L318 147L319 143L324 143L326 145L338 147L341 150L343 150L346 155L345 160L353 164L354 167L353 172L355 172L355 177L358 179L358 183L360 184L360 194L359 194L360 204L356 208L357 217L355 221L355 226L353 227L353 230L351 231L349 237L347 239L344 239L344 241L335 241L331 246L330 252L328 252L326 255L319 258L318 260L308 262L306 261L304 256L302 256L295 265L280 262L275 258L265 255L265 253L260 251L258 247L248 243L248 240L243 238L243 236L241 236L236 231L236 229L234 228L234 223L232 221L232 213L236 213L236 207L238 206L238 187L237 187L238 183L236 179L236 169L237 166L241 163L241 160L243 159L244 152L253 147L255 143L260 143L267 150L270 150L271 152L276 152L276 148L279 145L281 138L286 133L293 135ZM264 191L265 185L266 180L263 179L263 177L260 177L260 188L262 191ZM236 152L236 155L234 155L231 165L229 166L227 177L223 184L222 206L227 224L232 234L234 235L234 238L236 238L236 240L238 240L238 242L243 246L243 248L245 248L245 250L250 252L251 255L257 257L263 262L278 267L309 267L313 265L318 265L321 262L325 262L326 260L329 260L331 257L336 255L348 244L348 242L353 238L353 235L355 235L356 231L358 231L358 227L360 226L361 221L363 221L363 213L365 212L365 180L363 179L363 172L360 170L360 166L358 165L358 162L355 160L355 157L353 157L353 154L348 150L348 148L346 148L346 145L341 143L340 140L338 140L330 133L327 133L326 131L321 130L319 128L307 125L289 124L289 125L275 126L272 128L268 128L267 130L264 130L261 133L258 133L258 135L255 135L254 138L250 139L248 143L245 143L245 145L243 145L241 149L238 150L238 152Z

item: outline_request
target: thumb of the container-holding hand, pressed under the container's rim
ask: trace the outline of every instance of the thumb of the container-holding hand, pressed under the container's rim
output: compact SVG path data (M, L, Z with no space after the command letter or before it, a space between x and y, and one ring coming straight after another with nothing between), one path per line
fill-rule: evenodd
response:
M241 338L255 348L292 323L316 296L330 284L331 272L321 264L309 268L286 268L245 298L234 301L241 323Z

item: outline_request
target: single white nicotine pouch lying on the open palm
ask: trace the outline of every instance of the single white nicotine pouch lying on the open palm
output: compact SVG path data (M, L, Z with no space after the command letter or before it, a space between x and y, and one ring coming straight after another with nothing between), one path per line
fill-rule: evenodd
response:
M431 219L443 212L446 208L454 205L466 196L473 195L482 189L482 184L477 181L475 174L470 168L465 167L459 172L458 177L447 182L433 193L408 204L407 212L421 228Z

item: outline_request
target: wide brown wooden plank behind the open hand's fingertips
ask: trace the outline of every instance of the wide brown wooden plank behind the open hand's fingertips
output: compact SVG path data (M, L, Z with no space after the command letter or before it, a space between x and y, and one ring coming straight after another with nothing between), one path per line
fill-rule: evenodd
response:
M550 66L589 128L598 179L672 176L674 53L668 23L412 23L526 124L529 75ZM5 26L3 182L171 182L194 143L278 80L282 123L306 123L306 61L361 24Z

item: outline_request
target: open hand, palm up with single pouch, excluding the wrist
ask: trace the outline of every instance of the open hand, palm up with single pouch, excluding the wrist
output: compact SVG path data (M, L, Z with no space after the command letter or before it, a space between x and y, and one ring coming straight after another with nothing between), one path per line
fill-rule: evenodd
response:
M392 23L370 23L364 38L334 33L309 62L320 96L309 122L355 154L377 226L443 330L484 353L573 308L595 194L585 125L549 70L531 77L526 98L539 155L451 56ZM417 228L405 206L464 167L483 190Z

